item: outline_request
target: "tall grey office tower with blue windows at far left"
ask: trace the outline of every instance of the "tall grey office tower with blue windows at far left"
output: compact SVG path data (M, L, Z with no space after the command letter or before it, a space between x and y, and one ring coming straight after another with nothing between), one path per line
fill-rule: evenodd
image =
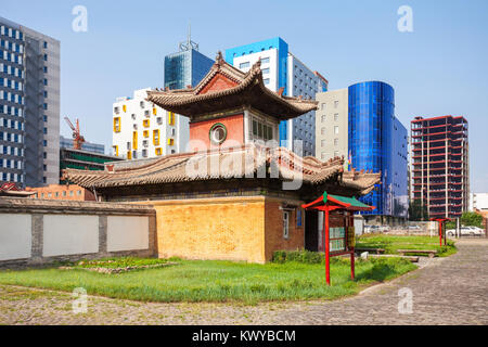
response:
M0 17L0 181L59 183L60 41Z

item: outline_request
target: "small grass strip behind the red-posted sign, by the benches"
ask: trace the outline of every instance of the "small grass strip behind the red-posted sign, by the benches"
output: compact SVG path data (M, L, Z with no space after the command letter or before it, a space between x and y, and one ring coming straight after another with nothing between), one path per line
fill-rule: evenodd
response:
M368 234L356 240L357 248L384 248L385 254L396 254L397 249L436 249L437 255L446 257L457 252L454 242L447 241L447 246L439 246L438 236L397 236L385 234Z

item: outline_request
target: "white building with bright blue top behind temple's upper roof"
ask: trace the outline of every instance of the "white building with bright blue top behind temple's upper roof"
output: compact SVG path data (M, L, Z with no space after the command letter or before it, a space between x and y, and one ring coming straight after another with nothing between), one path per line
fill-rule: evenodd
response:
M243 72L258 60L261 61L264 82L272 91L314 99L316 93L328 90L328 80L292 54L288 44L280 37L226 50L227 63ZM279 133L281 145L304 156L316 155L314 111L281 121ZM295 140L301 142L296 143Z

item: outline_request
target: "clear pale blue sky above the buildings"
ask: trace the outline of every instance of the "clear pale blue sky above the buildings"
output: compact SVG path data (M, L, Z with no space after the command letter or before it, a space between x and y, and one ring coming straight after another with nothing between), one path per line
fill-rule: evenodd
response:
M75 5L88 33L72 30ZM400 5L413 33L397 29ZM61 40L62 118L80 119L85 138L112 142L112 103L163 86L163 62L185 39L214 59L218 50L275 36L330 89L383 80L396 115L463 115L470 123L471 184L488 192L488 1L486 0L0 0L0 16ZM61 132L69 137L62 121Z

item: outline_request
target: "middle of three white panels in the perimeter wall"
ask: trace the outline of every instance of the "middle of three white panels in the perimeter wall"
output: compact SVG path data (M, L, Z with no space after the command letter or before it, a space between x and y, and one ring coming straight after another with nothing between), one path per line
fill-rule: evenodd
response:
M98 216L44 215L42 256L99 252Z

